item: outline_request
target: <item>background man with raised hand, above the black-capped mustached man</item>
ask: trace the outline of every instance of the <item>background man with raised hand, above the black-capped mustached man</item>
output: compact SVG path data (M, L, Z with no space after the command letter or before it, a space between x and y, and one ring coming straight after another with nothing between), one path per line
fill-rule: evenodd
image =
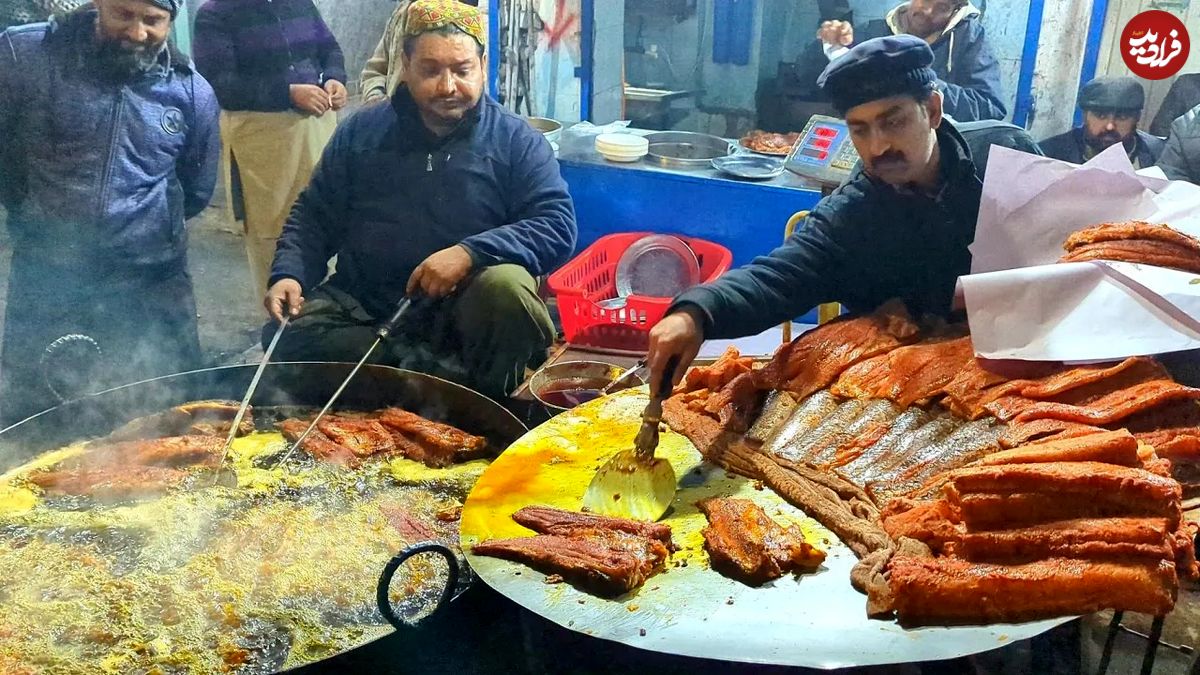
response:
M1004 119L1000 62L984 35L979 10L966 0L911 0L869 22L862 30L848 22L821 24L817 38L829 60L858 42L888 35L914 35L934 50L942 109L954 121Z

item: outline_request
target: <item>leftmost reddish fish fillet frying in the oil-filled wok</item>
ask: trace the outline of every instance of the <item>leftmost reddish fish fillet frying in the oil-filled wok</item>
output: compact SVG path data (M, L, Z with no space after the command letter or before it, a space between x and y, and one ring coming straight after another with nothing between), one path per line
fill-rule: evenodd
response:
M94 466L32 473L28 480L47 495L109 502L162 495L186 478L184 471L161 466Z

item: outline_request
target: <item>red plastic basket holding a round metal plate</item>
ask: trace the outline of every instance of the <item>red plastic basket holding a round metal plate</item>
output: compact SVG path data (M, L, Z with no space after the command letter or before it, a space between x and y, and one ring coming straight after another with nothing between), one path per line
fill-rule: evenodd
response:
M558 299L563 333L572 345L622 352L649 347L649 331L662 319L671 298L628 295L625 306L604 309L598 303L617 297L617 262L638 239L650 232L625 232L598 239L582 253L550 275L550 289ZM733 264L733 253L720 244L680 237L700 262L701 282L713 281Z

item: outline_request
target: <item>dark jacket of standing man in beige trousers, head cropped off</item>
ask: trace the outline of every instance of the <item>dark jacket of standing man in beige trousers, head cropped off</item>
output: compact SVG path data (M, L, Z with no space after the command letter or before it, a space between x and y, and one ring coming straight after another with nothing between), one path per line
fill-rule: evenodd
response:
M193 52L227 110L288 110L293 84L347 83L312 0L209 0L196 13Z

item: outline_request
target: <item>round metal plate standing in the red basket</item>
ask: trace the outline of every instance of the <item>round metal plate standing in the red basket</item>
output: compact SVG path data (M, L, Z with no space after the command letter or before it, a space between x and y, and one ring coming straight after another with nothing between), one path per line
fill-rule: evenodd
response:
M700 283L700 261L678 237L650 234L625 249L617 261L617 294L674 298Z

